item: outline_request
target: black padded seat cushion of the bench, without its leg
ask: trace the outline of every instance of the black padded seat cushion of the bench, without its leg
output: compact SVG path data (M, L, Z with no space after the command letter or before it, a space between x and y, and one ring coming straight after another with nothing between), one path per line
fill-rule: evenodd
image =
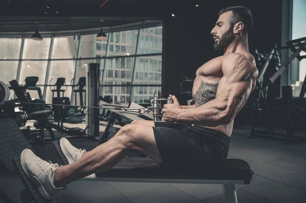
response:
M186 180L241 180L249 184L251 166L241 159L209 162L205 167L164 167L148 158L124 158L112 169L96 173L96 177Z

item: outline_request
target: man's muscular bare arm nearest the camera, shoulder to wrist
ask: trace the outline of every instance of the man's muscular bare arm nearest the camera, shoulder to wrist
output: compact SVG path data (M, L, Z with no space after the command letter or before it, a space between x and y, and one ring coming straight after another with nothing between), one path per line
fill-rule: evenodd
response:
M231 123L254 89L258 70L244 55L233 53L224 57L222 71L216 99L197 108L178 109L172 121L210 127Z

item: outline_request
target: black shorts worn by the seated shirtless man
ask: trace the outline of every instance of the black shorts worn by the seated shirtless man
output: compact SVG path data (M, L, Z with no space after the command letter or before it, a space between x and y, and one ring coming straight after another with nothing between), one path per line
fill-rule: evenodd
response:
M227 158L229 136L200 126L177 128L166 122L153 127L164 166L190 167Z

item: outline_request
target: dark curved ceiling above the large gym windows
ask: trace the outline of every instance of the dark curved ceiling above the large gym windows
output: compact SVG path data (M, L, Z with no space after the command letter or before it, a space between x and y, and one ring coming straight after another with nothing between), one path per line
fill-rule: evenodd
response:
M0 34L60 32L163 20L173 9L221 0L3 0ZM101 7L101 5L103 5Z

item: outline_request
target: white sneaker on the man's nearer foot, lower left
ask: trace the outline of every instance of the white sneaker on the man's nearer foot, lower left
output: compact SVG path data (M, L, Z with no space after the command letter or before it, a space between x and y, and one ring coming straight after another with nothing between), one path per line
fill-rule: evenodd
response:
M42 160L29 149L22 151L20 163L25 175L33 181L43 198L52 200L60 191L67 189L56 188L54 185L54 174L59 167L58 164Z

